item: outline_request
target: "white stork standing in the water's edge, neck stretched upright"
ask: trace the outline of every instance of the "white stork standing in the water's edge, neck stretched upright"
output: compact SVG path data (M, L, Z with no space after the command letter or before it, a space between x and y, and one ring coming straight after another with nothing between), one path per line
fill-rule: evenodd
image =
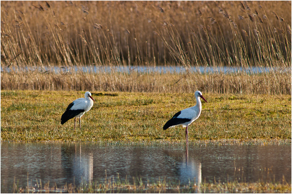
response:
M186 148L188 145L188 130L187 127L194 122L194 120L197 120L201 114L202 110L202 103L200 100L200 97L207 102L207 100L202 96L202 92L196 91L195 97L197 100L196 106L192 106L190 108L183 109L182 111L179 111L173 115L173 117L168 120L165 125L163 126L163 130L168 129L169 127L175 127L178 125L183 125L185 127L185 140L186 140ZM208 103L208 102L207 102Z

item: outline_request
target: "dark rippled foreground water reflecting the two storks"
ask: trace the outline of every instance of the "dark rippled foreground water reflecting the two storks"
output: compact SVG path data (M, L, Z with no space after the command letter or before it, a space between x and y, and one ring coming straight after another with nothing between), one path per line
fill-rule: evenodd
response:
M287 145L126 145L101 143L1 143L1 192L36 180L58 187L81 181L133 177L155 182L291 183L291 143Z

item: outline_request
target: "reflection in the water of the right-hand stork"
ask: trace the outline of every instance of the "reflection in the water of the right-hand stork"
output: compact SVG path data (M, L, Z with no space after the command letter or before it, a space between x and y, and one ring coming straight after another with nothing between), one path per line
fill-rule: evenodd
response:
M188 154L188 146L185 151L164 150L164 153L171 158L175 168L175 172L181 183L195 181L196 184L201 183L201 162Z

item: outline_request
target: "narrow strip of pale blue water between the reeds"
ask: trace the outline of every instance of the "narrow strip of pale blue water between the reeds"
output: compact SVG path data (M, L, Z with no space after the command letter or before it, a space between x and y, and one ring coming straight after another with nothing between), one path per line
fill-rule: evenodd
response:
M260 73L269 73L269 72L279 72L279 73L291 73L290 67L259 67L259 66L251 66L251 67L230 67L230 66L173 66L173 65L157 65L157 66L74 66L74 67L57 67L57 66L44 66L44 67L13 67L13 70L18 70L22 72L26 71L39 71L43 73L72 73L72 72L86 72L86 73L97 73L97 72L105 72L105 73L114 73L114 72L122 72L122 73L184 73L187 70L191 72L198 73L238 73L238 72L246 72L248 74L260 74ZM1 72L10 72L11 69L5 67L4 69L1 67Z

